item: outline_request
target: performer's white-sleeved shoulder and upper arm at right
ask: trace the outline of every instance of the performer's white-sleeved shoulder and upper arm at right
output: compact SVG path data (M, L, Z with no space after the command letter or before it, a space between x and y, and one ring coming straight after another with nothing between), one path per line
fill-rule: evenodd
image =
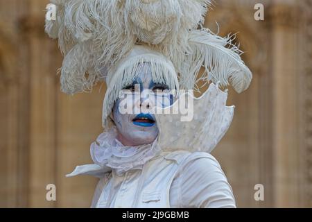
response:
M176 181L184 207L235 207L232 187L209 153L190 153L179 166Z

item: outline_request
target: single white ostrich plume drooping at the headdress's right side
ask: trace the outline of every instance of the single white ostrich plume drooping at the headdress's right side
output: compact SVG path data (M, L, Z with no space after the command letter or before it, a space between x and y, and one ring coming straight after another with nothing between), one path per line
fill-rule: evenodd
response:
M220 37L202 28L189 33L189 45L192 53L186 57L180 85L193 88L199 81L220 82L220 86L231 84L236 92L241 93L250 85L252 73L241 60L241 50L232 44L234 35ZM199 76L200 68L205 72Z

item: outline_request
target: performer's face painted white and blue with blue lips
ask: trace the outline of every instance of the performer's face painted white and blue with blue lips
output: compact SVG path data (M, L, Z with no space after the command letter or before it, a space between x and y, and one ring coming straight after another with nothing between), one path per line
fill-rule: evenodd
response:
M150 144L154 142L158 135L158 128L153 112L150 112L148 110L150 110L150 106L156 104L154 104L153 102L154 98L150 98L150 96L145 96L144 92L150 92L150 90L152 90L153 92L155 92L155 96L159 96L157 95L157 92L167 92L170 90L168 88L168 85L166 84L154 83L152 74L149 69L141 70L141 73L139 73L135 77L132 84L124 87L124 89L128 89L132 92L133 99L130 104L132 105L132 110L135 110L135 106L139 107L139 114L121 114L119 105L124 102L123 100L127 98L118 99L114 104L114 108L112 111L112 119L116 124L118 133L116 139L118 139L119 142L121 142L125 146L138 146L141 144ZM134 99L136 87L139 87L141 92L141 96L139 96L138 101ZM169 98L164 99L164 101L167 102L166 104L162 103L163 107L172 105L173 103L173 96L170 96L170 94L166 94L166 96L168 96ZM128 96L128 99L129 97L131 98L131 96ZM156 101L159 101L159 99L157 99ZM127 104L129 104L129 102L127 102Z

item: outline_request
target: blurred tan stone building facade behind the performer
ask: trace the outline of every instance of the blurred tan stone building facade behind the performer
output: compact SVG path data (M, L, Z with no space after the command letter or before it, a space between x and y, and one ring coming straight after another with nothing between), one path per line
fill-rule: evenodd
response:
M47 0L0 0L0 207L89 207L105 85L60 92L58 43L44 33ZM264 21L254 5L264 6ZM216 0L205 26L238 33L254 78L229 92L234 121L213 152L238 207L312 207L312 0ZM218 23L218 26L216 25ZM46 185L56 185L56 201ZM255 185L264 187L256 201Z

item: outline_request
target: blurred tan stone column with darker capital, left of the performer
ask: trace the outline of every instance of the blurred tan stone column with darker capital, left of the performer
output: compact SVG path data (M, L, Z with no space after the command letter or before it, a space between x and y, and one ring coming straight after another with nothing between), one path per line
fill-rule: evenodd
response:
M36 7L38 4L35 5ZM21 21L28 46L29 148L28 207L53 207L46 185L56 184L56 80L51 53L54 45L44 34L44 7ZM53 69L51 68L53 67Z

